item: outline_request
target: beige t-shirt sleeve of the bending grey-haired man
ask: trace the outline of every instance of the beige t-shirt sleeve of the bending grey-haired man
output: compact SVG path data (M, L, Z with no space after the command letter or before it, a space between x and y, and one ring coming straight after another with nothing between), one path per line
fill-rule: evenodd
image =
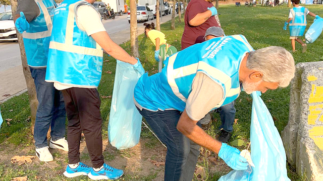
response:
M186 102L186 113L194 121L202 119L223 98L222 87L204 73L197 73Z

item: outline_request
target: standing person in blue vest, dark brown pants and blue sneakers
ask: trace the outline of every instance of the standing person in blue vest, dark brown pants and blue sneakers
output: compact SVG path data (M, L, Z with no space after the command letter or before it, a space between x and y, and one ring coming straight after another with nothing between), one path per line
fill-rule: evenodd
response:
M99 85L103 52L128 62L143 74L138 58L130 56L107 34L100 13L92 6L95 0L65 0L55 10L49 43L46 81L53 82L65 99L68 117L69 164L67 177L117 179L123 170L104 163L102 155L102 118ZM103 48L103 50L102 50ZM92 167L80 162L82 131Z

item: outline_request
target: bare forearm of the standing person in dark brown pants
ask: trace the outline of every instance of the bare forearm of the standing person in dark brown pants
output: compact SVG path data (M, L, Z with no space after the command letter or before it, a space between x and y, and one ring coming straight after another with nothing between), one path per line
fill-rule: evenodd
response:
M91 35L91 37L103 48L103 52L105 51L120 61L133 65L137 63L138 60L135 57L130 56L124 49L112 41L110 36L105 31L94 33Z

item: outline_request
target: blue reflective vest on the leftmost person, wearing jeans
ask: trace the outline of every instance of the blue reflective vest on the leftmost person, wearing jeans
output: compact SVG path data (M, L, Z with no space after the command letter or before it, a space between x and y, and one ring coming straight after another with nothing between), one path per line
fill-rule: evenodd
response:
M52 18L56 3L52 0L35 0L35 2L40 14L29 22L30 27L22 36L28 65L33 68L44 68L47 65Z

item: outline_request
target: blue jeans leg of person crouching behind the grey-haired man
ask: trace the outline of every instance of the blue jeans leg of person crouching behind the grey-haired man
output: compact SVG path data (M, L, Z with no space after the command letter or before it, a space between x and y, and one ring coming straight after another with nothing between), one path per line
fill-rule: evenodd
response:
M227 132L232 132L234 117L236 115L236 109L234 108L234 101L230 104L222 106L219 108L220 118L222 121L222 125L220 129L224 129Z

